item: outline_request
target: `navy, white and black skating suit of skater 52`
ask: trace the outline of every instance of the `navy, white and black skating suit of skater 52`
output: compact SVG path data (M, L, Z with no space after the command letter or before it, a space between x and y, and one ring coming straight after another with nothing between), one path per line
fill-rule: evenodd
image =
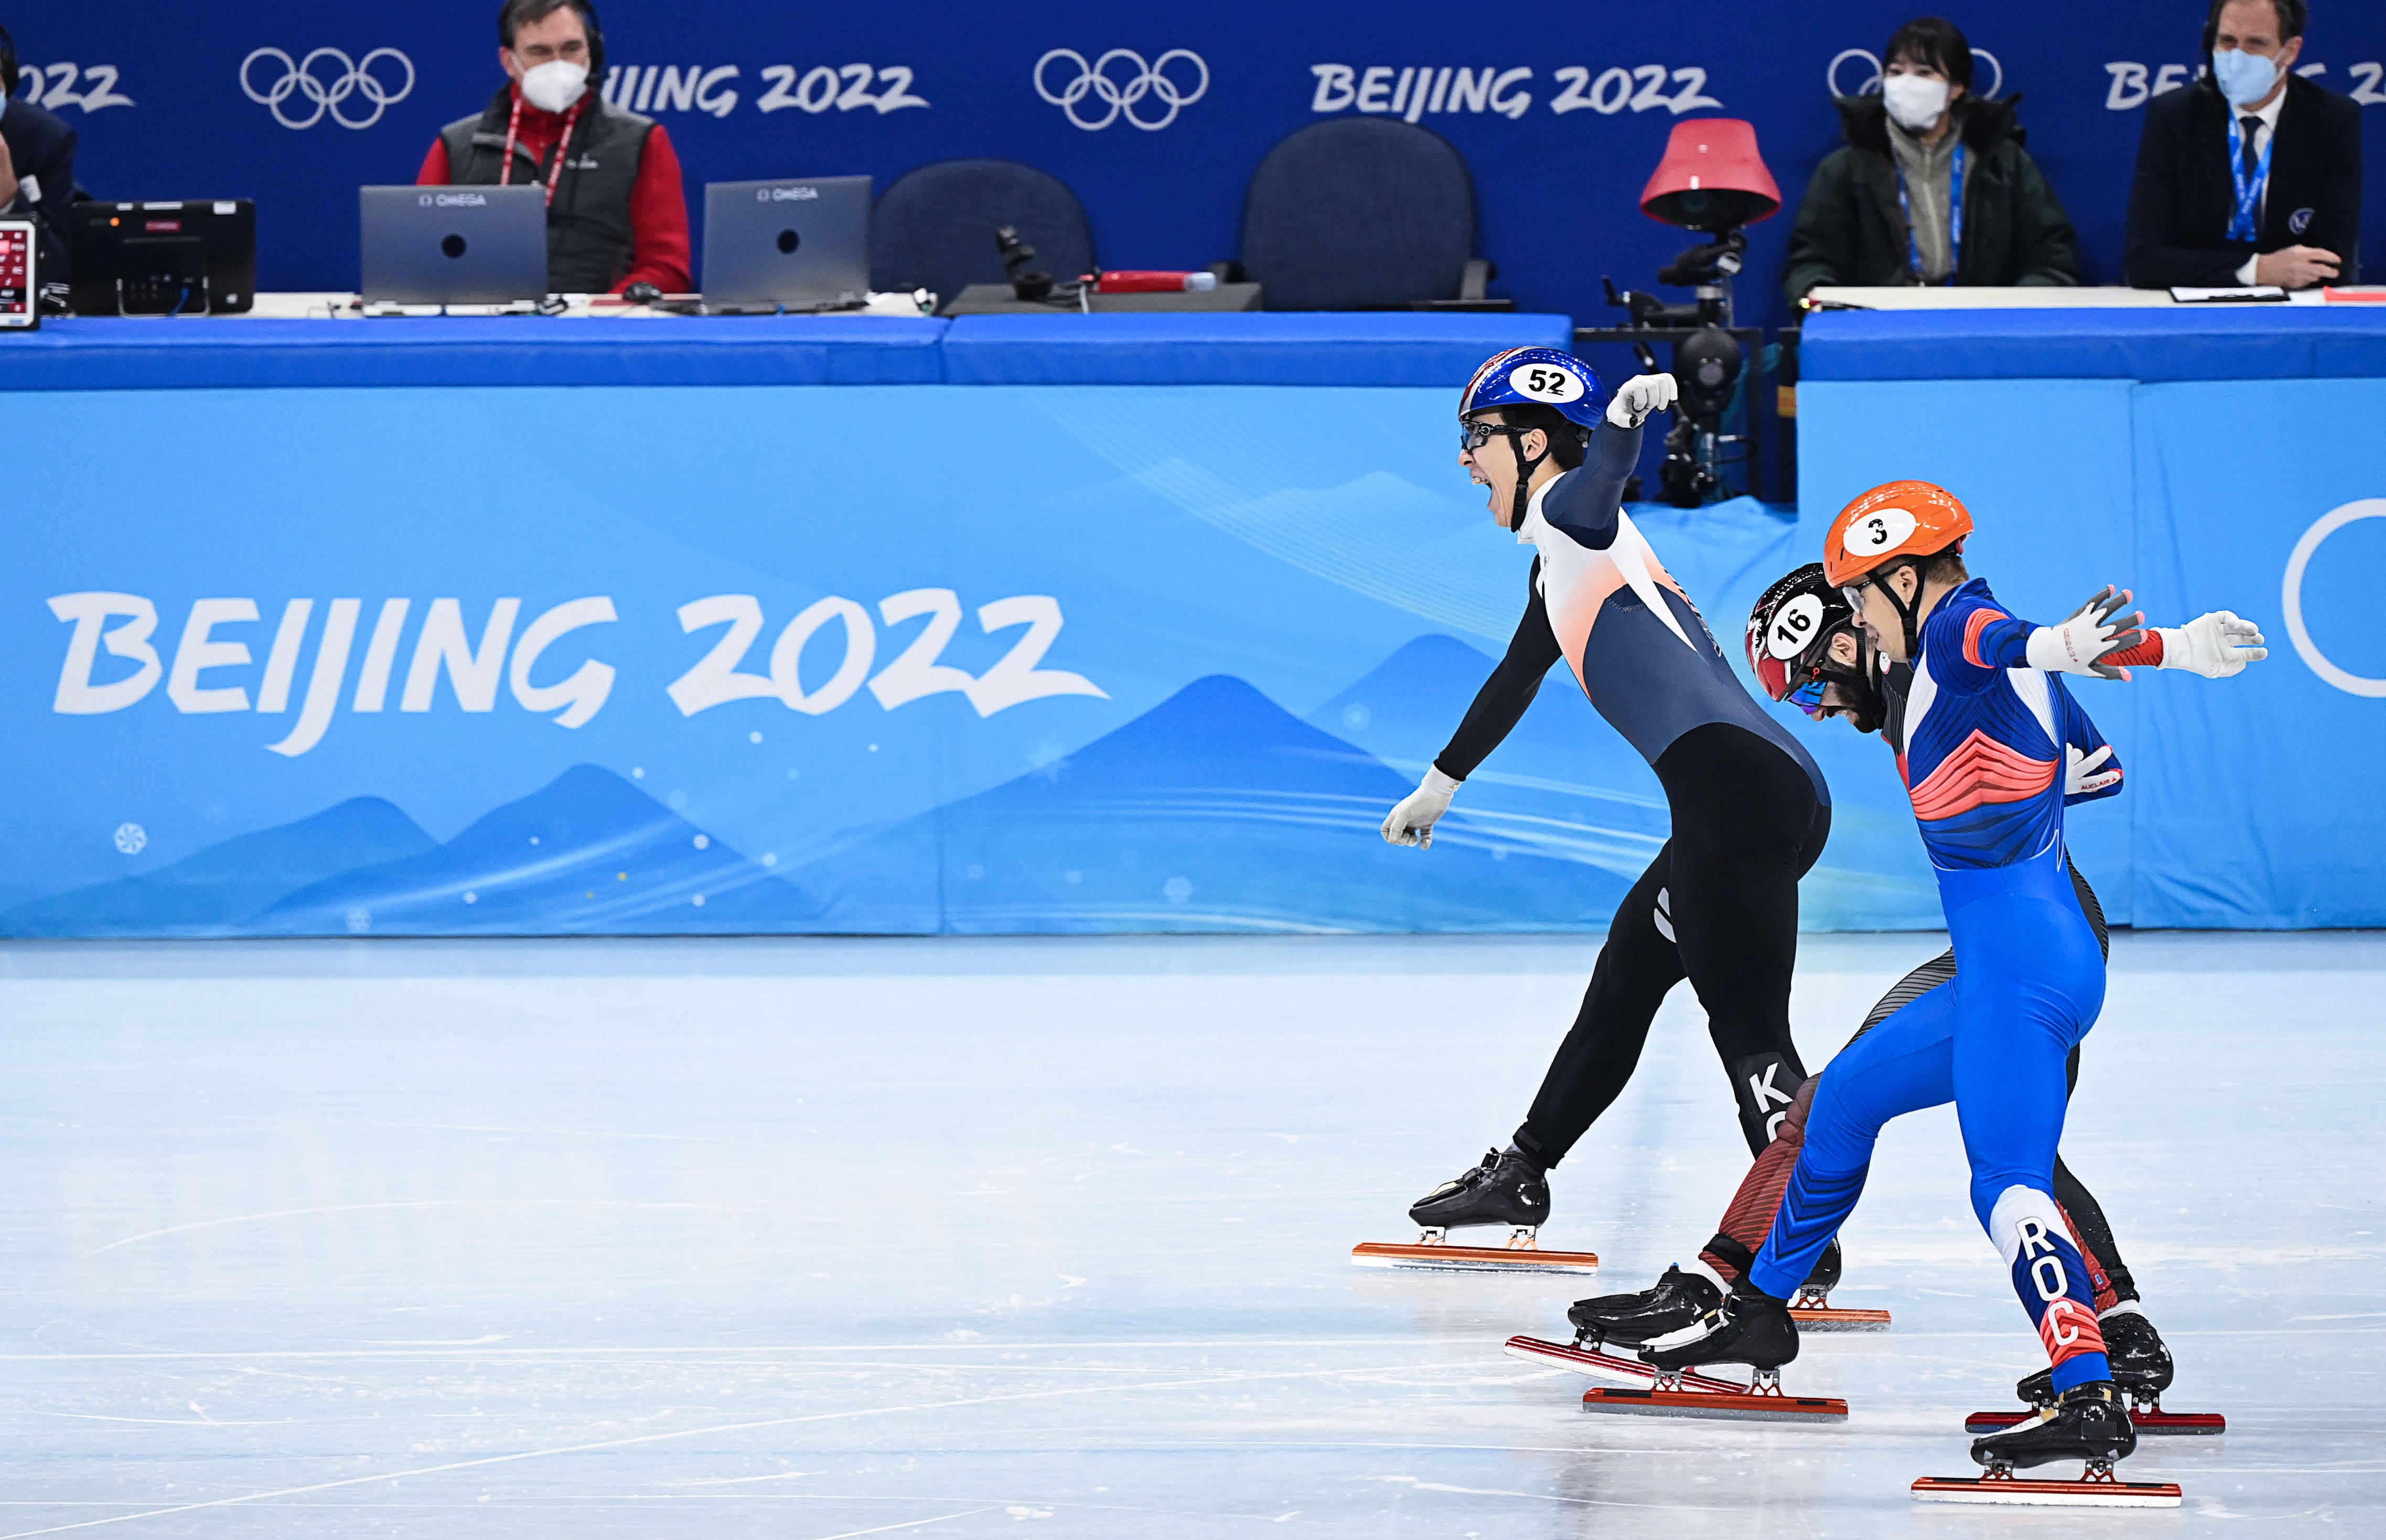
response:
M1517 541L1539 558L1525 617L1434 760L1465 780L1563 658L1656 770L1673 811L1673 837L1615 911L1575 1027L1517 1128L1517 1144L1544 1163L1615 1101L1658 1004L1685 977L1706 1006L1751 1151L1806 1078L1790 1042L1797 882L1830 837L1830 791L1625 515L1639 446L1639 429L1601 427L1584 462L1527 503Z

